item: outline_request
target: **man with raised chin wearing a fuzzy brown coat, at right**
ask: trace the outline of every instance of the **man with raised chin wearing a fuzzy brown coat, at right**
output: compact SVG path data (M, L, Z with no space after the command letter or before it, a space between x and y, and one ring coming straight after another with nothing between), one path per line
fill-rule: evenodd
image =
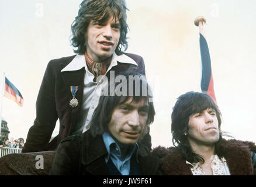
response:
M165 175L256 174L256 146L252 142L224 140L222 115L206 93L179 96L171 115L175 147L157 147L160 171Z

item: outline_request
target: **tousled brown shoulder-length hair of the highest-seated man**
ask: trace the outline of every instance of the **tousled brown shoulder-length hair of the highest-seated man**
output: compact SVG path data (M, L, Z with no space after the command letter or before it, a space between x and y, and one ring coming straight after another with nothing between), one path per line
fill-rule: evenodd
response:
M120 22L120 38L116 47L116 54L122 54L128 47L126 34L128 25L126 23L126 3L124 0L84 0L80 4L77 17L71 25L71 45L77 47L74 53L84 54L86 50L85 33L91 20L106 21L111 16Z

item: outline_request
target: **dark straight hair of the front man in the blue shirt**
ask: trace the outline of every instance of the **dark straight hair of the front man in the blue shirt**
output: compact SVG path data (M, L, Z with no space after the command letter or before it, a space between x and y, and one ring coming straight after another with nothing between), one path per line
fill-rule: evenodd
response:
M117 76L120 75L125 77L126 80L129 80L129 76L138 76L139 84L136 84L136 81L132 82L133 84L129 84L129 81L125 82L127 88L125 94L119 95L116 91L113 93L113 90L110 90L111 88L113 88L113 85L111 85L113 84L113 82L109 81L108 94L104 94L101 96L101 98L99 98L98 106L95 109L94 114L92 115L91 122L89 123L89 132L93 137L101 135L104 132L108 131L108 124L112 117L113 110L116 108L117 105L122 105L122 103L125 103L130 98L132 98L132 102L136 103L139 103L140 101L148 102L148 118L146 122L146 128L143 131L142 137L148 133L149 125L154 122L155 109L152 101L153 93L150 86L147 83L145 75L129 71L123 72L122 74L119 74ZM115 88L117 88L118 85L123 85L124 82L114 82L114 84ZM147 92L144 92L143 89L148 90Z

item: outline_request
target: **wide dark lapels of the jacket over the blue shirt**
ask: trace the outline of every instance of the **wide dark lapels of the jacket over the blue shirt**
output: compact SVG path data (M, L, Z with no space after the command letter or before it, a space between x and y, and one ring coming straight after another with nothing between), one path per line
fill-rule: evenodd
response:
M101 135L92 137L89 131L82 134L82 165L94 175L109 175L105 163L105 156L108 154ZM143 157L139 151L139 164L143 175L155 175L158 168L158 158L152 155Z

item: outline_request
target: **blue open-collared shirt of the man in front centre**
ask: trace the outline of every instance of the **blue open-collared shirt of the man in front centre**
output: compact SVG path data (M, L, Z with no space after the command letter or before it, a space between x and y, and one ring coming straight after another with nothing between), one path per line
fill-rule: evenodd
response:
M138 160L138 151L139 145L136 143L134 147L126 154L126 157L122 157L121 149L116 143L116 141L108 134L102 134L103 141L108 151L108 155L105 157L105 162L108 163L109 158L112 160L115 167L122 175L129 175L130 174L130 158L133 154L136 154L136 161L139 163Z

